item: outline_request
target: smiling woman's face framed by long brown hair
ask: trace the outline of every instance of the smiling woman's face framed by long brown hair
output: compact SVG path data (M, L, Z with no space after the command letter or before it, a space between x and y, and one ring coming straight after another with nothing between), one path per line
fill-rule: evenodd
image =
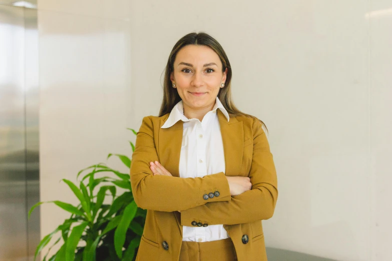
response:
M215 104L226 81L218 54L205 45L186 45L176 55L170 80L175 83L184 108L206 109Z

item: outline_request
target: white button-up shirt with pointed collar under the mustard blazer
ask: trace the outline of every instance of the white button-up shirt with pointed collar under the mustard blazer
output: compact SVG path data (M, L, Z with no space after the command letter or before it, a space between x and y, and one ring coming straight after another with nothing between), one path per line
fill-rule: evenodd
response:
M230 117L219 98L200 122L197 118L188 119L184 115L182 100L171 110L162 128L174 125L178 120L184 121L180 153L180 177L203 177L209 174L225 172L223 141L220 132L217 109ZM214 190L215 191L215 190ZM209 192L206 191L207 194ZM199 220L196 220L199 222ZM213 241L230 237L222 224L204 226L183 226L183 241Z

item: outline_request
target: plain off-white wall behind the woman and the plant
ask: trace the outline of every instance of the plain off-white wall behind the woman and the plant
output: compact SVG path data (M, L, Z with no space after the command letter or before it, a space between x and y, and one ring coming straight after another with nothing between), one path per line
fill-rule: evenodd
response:
M158 114L171 48L206 31L230 59L237 106L269 129L279 198L263 222L267 246L392 260L392 0L40 0L38 9L42 200L74 200L61 178L130 154L126 127ZM67 216L55 209L42 207L43 235Z

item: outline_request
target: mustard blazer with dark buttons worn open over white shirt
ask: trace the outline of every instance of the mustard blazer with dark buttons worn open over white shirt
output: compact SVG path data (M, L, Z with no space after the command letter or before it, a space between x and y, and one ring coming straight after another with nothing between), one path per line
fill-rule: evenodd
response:
M261 220L272 217L278 197L267 137L253 118L234 116L228 122L220 109L217 113L226 170L195 178L179 177L183 121L161 128L169 113L143 118L130 169L134 200L148 209L136 260L178 261L182 226L194 220L223 224L239 261L267 260ZM154 176L150 161L155 160L173 176ZM249 176L252 189L231 196L225 175ZM215 188L220 195L205 200L205 192Z

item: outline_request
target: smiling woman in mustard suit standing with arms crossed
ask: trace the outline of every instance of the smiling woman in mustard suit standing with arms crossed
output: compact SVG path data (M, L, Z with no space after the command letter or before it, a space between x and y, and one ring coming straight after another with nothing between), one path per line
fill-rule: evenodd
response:
M143 118L132 155L132 192L147 209L137 260L267 260L275 166L264 123L234 106L230 80L210 35L173 47L161 111Z

